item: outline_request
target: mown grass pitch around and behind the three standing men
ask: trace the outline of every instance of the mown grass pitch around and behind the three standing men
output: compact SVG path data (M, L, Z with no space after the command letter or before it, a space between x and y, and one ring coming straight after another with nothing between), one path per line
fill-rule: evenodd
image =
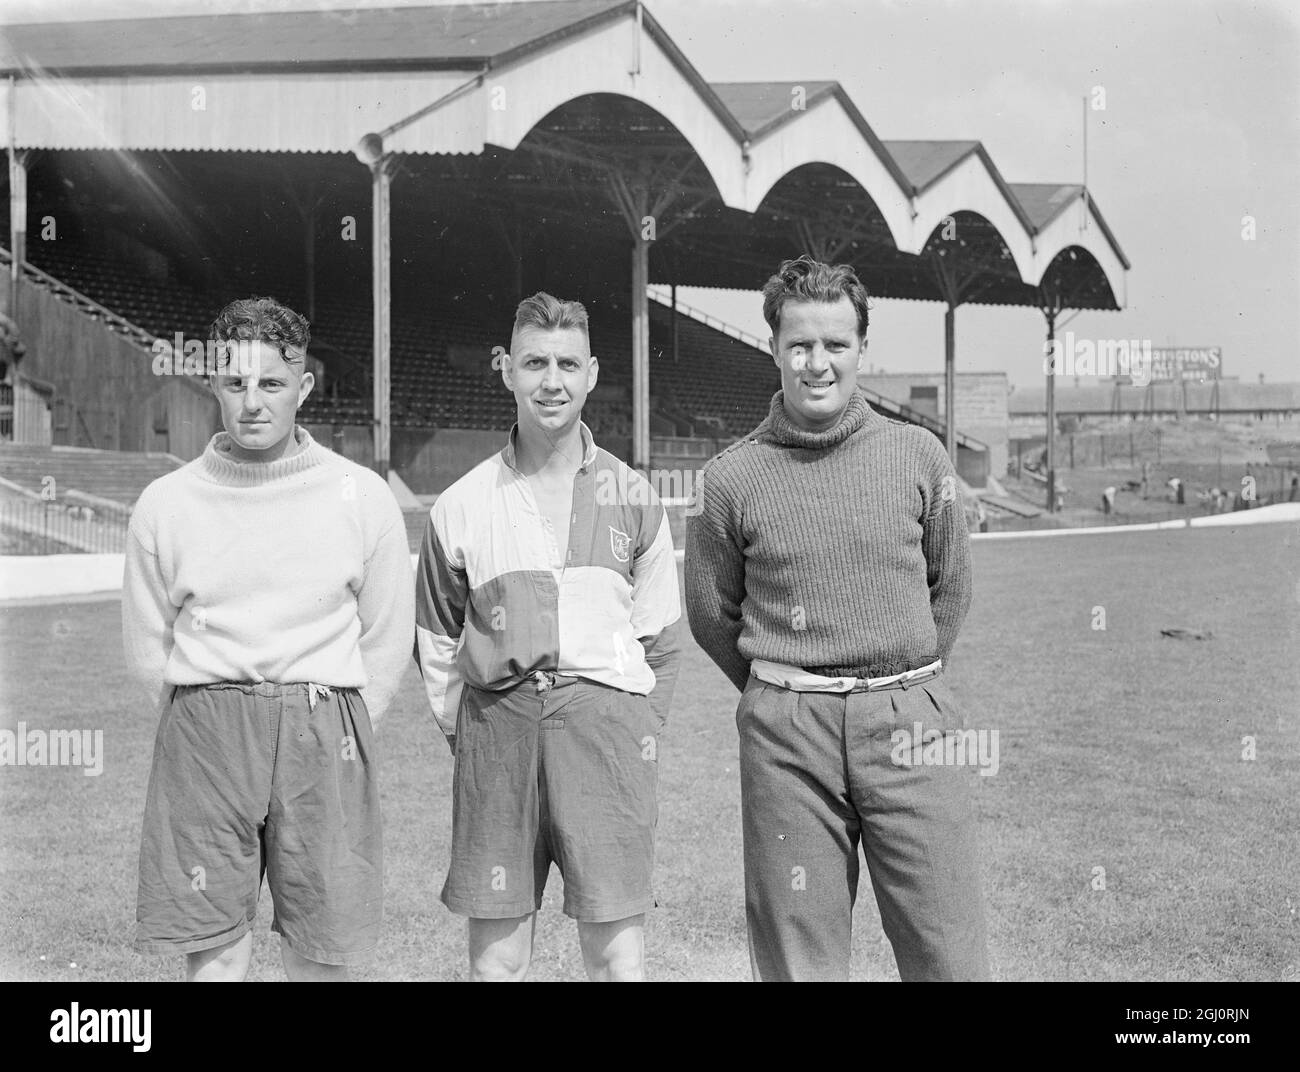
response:
M994 977L1300 980L1296 528L987 541L974 556L949 681L967 725L1000 735L997 774L970 771ZM742 980L737 694L685 642L649 971ZM0 609L0 726L103 729L105 747L99 777L0 768L4 978L179 977L179 958L130 949L156 726L120 651L117 602ZM355 976L462 978L464 924L437 899L451 758L413 667L381 746L386 923ZM533 978L584 975L559 889L552 871ZM282 977L269 919L264 890L252 978ZM864 869L853 973L897 978Z

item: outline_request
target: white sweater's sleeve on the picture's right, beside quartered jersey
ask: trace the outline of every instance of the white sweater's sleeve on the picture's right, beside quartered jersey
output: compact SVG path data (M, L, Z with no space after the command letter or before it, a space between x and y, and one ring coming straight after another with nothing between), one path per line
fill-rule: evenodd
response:
M370 713L372 726L378 726L396 695L415 637L415 590L411 586L406 524L386 485L378 499L384 503L384 529L365 563L365 576L356 593L356 612L361 620L361 664L367 681L361 699Z

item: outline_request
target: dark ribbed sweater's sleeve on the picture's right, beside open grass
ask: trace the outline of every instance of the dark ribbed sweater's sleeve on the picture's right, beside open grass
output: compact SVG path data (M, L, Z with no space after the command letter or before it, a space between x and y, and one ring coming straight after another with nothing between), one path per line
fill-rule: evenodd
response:
M927 439L935 443L928 433ZM926 556L939 657L946 664L971 604L971 552L957 473L948 455L935 447L926 498L920 550Z

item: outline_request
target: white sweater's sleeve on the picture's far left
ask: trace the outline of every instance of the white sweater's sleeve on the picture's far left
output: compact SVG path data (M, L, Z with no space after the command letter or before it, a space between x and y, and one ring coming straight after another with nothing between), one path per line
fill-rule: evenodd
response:
M161 707L164 682L172 656L173 624L181 608L168 596L157 554L139 518L133 517L126 535L122 572L122 651L126 669L151 709Z

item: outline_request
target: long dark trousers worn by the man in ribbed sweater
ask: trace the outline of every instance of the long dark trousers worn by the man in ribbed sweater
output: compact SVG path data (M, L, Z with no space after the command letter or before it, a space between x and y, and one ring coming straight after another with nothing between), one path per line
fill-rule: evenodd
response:
M900 747L918 724L931 739L961 729L948 686L797 693L751 677L736 724L754 978L848 978L861 845L898 975L987 980L974 772Z

